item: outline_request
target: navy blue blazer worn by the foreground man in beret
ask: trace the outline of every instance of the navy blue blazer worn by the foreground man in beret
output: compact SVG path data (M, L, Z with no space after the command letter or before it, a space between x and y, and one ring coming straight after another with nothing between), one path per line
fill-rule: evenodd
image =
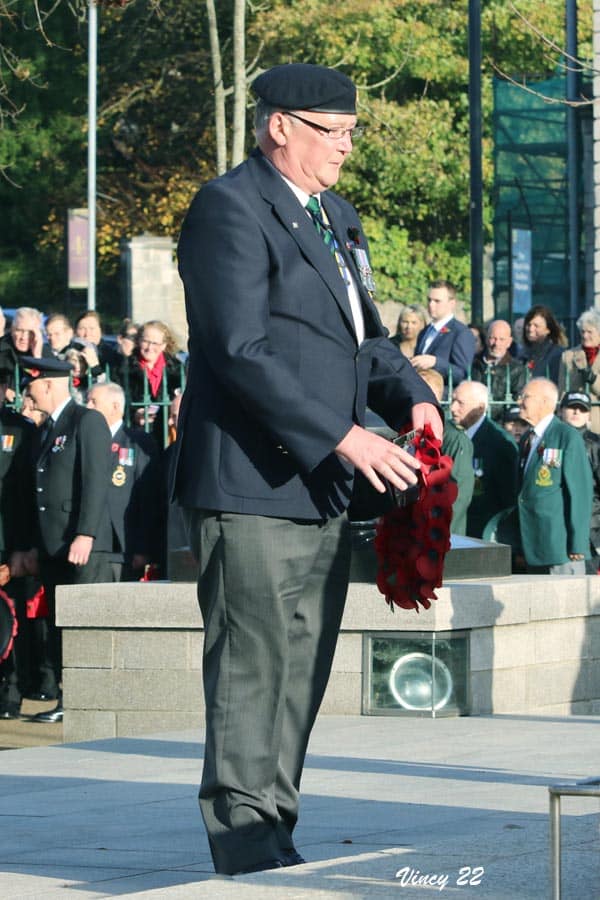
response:
M333 450L367 403L394 429L435 403L362 287L356 211L321 199L360 290L360 347L334 257L259 150L192 202L178 249L190 362L171 493L183 507L339 515L354 473Z

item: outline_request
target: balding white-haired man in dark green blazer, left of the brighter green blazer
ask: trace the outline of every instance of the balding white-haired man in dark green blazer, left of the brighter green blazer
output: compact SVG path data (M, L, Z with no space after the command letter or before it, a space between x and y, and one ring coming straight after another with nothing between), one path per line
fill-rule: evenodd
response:
M488 390L478 381L454 389L450 414L473 442L475 486L467 510L467 534L480 538L492 516L513 506L517 496L517 445L487 416Z

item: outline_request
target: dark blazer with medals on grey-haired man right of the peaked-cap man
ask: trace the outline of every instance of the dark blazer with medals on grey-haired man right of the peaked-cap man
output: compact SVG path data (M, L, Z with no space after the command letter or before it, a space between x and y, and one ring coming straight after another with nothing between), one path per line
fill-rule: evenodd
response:
M113 554L128 562L135 554L153 558L161 512L160 477L155 442L122 425L112 438L108 508Z

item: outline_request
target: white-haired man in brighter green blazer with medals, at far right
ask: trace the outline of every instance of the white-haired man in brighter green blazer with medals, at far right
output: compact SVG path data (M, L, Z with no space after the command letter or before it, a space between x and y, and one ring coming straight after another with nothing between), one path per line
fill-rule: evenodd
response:
M530 429L520 444L517 512L527 571L584 575L589 558L592 470L581 435L554 415L556 385L533 378L519 398Z

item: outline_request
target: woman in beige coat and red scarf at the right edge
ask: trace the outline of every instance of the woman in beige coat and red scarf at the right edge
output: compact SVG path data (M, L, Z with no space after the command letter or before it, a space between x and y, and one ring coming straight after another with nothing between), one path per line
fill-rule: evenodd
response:
M577 319L581 343L565 350L560 363L558 387L590 395L592 410L589 428L600 434L600 312L586 309Z

